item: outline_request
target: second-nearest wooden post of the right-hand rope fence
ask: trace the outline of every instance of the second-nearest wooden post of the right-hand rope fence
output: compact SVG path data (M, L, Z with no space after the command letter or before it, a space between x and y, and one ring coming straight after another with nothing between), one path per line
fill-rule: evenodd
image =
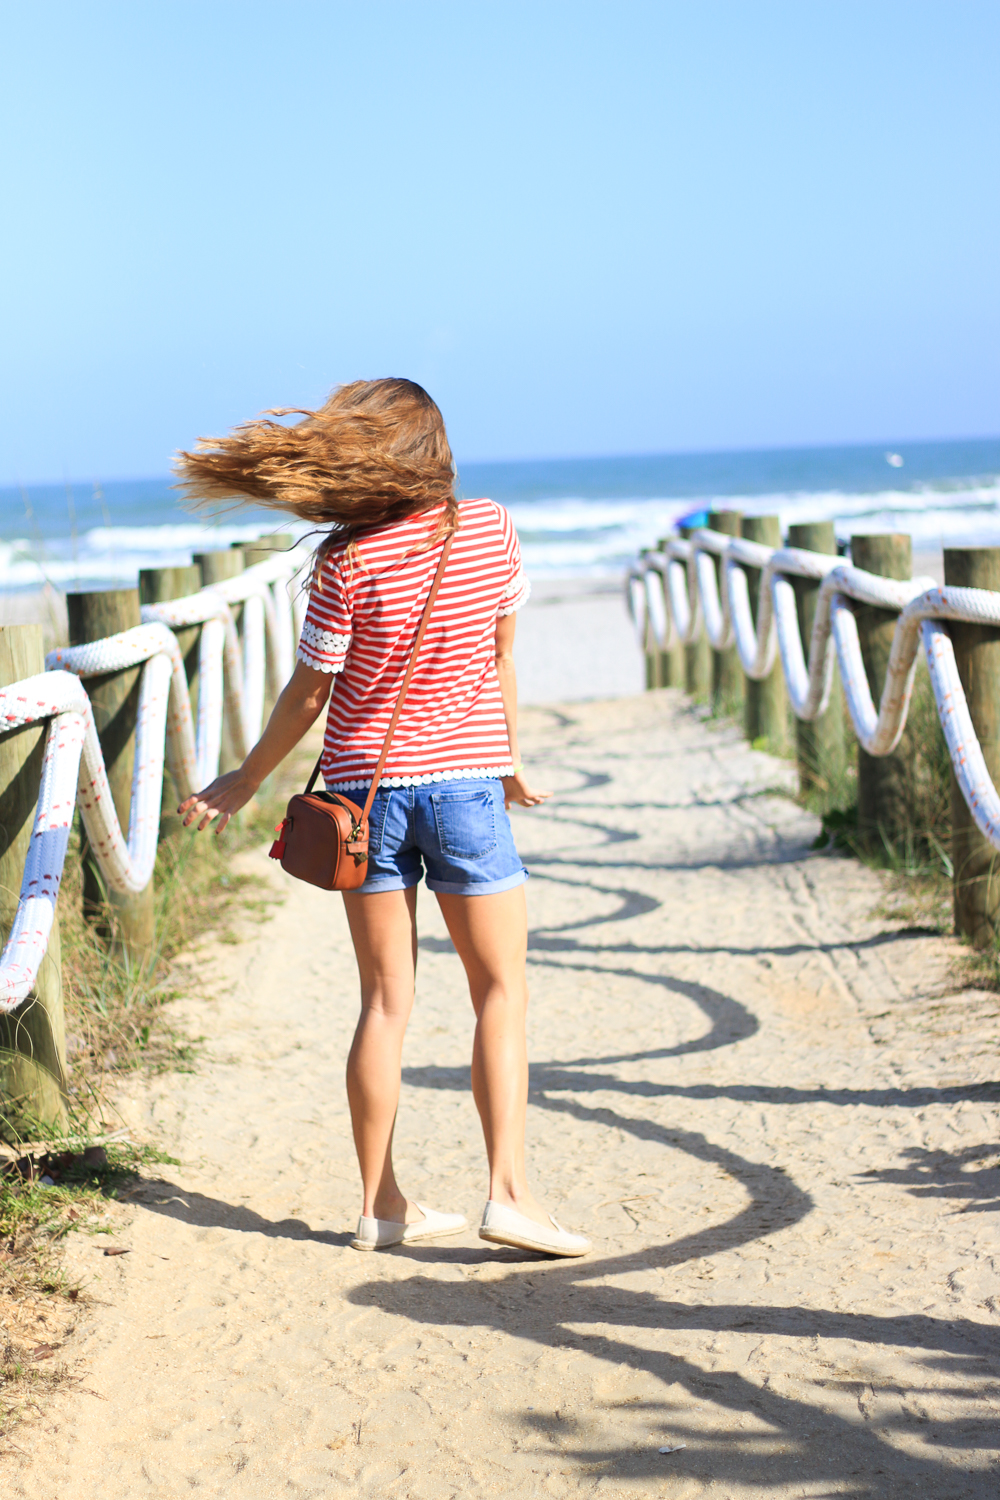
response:
M909 579L913 574L913 549L904 532L883 532L852 537L850 556L855 567L880 578ZM873 604L855 604L861 656L876 708L886 684L889 651L897 628L898 612ZM892 754L871 756L858 746L858 832L870 849L907 837L910 828L910 795L907 760L913 756L910 728L903 730Z

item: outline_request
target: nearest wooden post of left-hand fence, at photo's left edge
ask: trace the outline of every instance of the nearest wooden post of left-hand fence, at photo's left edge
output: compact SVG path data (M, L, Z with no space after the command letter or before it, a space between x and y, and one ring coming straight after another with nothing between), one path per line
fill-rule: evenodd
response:
M0 627L0 687L45 670L42 626ZM37 804L48 722L0 736L0 944L21 894L21 876ZM0 1126L66 1119L66 1023L63 1018L58 914L37 982L15 1011L0 1012Z

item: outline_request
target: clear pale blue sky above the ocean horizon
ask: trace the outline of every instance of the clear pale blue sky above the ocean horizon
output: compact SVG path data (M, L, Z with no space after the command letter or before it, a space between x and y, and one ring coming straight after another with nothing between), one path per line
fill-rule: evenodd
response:
M1000 430L996 3L0 21L0 484L384 374L466 460Z

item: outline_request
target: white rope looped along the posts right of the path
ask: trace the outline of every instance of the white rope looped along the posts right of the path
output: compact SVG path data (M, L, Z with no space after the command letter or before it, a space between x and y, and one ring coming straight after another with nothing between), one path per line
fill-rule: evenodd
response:
M756 624L748 567L760 568ZM808 658L793 578L820 584ZM931 578L897 582L823 552L766 548L705 530L690 540L672 537L663 550L639 558L625 578L625 602L643 651L654 642L660 651L678 642L691 645L705 630L715 651L736 646L744 672L754 681L768 676L780 654L792 708L807 722L819 718L829 702L837 654L855 734L873 756L891 754L900 742L924 646L955 777L976 826L1000 850L1000 794L976 738L948 628L949 621L1000 626L1000 594L940 588ZM861 656L856 604L900 616L877 710Z

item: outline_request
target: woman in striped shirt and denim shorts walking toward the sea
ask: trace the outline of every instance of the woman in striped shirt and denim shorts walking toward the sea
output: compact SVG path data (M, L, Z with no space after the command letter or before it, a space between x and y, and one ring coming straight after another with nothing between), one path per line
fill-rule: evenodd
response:
M274 412L288 416L288 412ZM295 672L238 771L178 808L219 832L330 699L322 774L364 801L430 582L454 542L370 814L367 876L345 891L361 980L348 1100L364 1203L357 1250L454 1234L460 1214L406 1198L393 1172L403 1034L414 1000L417 882L426 874L475 1010L472 1094L489 1158L480 1236L583 1256L525 1176L526 872L507 808L535 807L517 750L514 615L528 598L517 534L487 500L456 501L444 420L412 381L354 381L304 420L246 423L181 453L198 500L247 496L330 528L310 579ZM336 690L331 696L331 687Z

